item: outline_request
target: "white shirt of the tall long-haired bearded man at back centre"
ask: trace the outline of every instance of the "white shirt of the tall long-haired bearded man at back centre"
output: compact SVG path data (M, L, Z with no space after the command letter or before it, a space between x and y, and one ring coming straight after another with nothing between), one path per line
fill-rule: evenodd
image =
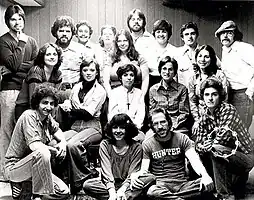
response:
M145 58L148 64L148 68L150 72L158 71L158 67L154 66L154 60L156 59L154 55L154 49L157 45L156 40L154 39L153 35L147 31L143 33L142 36L138 37L134 40L134 45L136 50Z

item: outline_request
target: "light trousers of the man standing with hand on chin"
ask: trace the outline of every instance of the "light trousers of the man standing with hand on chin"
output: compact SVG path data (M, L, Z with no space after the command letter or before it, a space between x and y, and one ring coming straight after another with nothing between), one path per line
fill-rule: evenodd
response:
M14 129L15 102L19 90L4 90L0 92L0 173L4 172L5 154L10 144L12 132ZM0 175L1 176L1 175ZM2 175L4 176L4 174ZM3 178L3 177L0 177Z

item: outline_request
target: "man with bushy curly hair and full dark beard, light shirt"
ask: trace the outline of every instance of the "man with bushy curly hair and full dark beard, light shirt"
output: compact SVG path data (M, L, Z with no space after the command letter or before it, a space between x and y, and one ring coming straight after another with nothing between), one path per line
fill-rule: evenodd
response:
M63 63L59 69L63 79L61 89L67 92L61 98L67 99L70 89L79 82L80 64L88 56L88 51L82 44L72 41L76 28L70 16L58 16L51 33L56 38L56 44L63 49Z

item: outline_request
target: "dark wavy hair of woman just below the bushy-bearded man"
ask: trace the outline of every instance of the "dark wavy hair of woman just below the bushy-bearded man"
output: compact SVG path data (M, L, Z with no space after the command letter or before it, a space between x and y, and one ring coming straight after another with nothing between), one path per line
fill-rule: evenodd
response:
M38 66L40 68L44 67L44 65L45 65L44 56L45 56L47 49L49 47L53 47L57 52L58 61L53 68L54 71L57 71L63 62L63 56L62 56L63 52L62 52L62 49L54 43L47 42L39 49L38 55L34 61L34 65Z

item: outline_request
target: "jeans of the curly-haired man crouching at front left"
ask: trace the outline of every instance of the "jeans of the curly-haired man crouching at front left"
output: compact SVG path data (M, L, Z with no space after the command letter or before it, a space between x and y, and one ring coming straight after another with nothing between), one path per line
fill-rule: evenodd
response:
M12 182L32 181L33 194L46 198L64 198L69 194L68 186L51 170L51 155L48 150L34 151L14 165L6 168Z

